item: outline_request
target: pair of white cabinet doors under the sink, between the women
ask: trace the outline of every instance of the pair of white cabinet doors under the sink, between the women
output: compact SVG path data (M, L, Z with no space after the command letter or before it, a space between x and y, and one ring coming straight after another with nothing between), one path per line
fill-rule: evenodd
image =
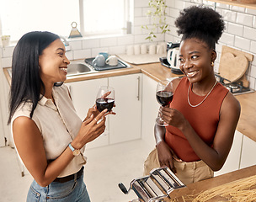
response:
M87 148L141 138L141 73L67 83L77 114L83 120L95 104L99 86L108 85L115 88L116 114L107 116L104 134L88 143Z

